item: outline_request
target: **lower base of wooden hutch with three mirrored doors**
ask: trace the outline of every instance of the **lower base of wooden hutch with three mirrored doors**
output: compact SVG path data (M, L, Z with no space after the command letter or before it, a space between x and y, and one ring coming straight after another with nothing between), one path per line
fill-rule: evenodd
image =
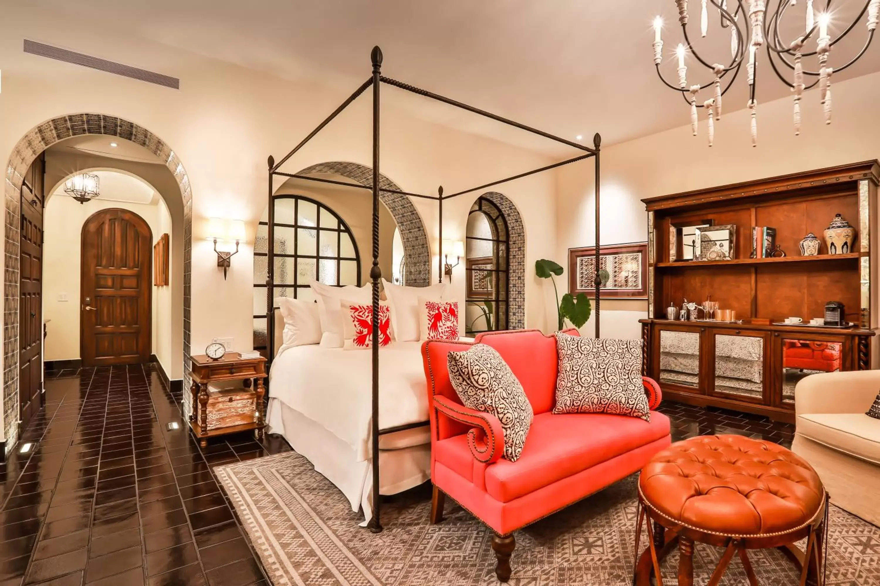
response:
M813 373L866 370L870 329L642 320L643 374L664 397L794 421L795 385Z

